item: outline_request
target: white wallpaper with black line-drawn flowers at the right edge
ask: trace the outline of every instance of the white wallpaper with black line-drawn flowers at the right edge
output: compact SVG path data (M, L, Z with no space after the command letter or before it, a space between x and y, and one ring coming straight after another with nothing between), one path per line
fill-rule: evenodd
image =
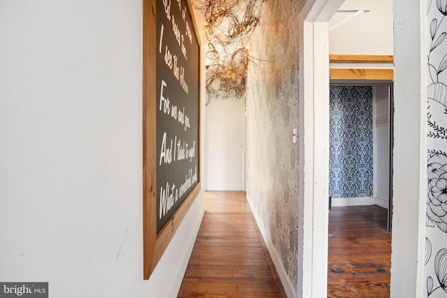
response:
M447 1L427 1L426 297L447 298ZM444 21L444 22L443 22ZM424 99L425 100L425 99Z

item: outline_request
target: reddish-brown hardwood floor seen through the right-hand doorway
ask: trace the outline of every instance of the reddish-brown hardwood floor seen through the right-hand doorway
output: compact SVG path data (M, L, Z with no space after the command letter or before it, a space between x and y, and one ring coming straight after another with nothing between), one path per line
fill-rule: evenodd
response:
M387 210L332 207L328 297L390 297L391 234Z

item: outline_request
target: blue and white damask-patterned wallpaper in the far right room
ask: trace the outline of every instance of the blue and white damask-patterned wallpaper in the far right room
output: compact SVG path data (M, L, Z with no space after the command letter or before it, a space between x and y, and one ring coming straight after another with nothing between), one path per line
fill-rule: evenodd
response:
M372 87L330 87L329 193L372 196Z

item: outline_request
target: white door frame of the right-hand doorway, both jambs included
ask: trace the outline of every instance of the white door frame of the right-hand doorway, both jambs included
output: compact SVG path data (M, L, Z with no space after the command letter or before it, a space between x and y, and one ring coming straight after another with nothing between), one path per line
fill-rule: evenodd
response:
M308 0L300 18L298 297L328 287L328 21L343 0ZM425 1L394 0L391 297L423 297L426 201ZM319 88L318 88L319 87ZM324 119L324 120L323 120ZM411 150L409 150L411 148Z

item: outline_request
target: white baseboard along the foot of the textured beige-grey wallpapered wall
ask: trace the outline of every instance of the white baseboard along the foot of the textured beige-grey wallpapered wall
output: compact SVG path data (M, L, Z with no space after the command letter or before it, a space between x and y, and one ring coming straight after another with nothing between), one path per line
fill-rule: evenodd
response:
M249 202L249 200L247 200ZM276 250L274 249L274 246L272 244L272 241L270 237L268 237L267 232L265 232L264 227L262 225L259 225L259 223L262 223L261 218L258 218L257 214L253 212L254 208L251 207L251 204L249 202L250 209L254 215L254 218L256 220L256 224L258 225L259 231L261 232L265 246L267 246L268 252L270 253L270 258L272 258L272 262L274 265L274 268L277 270L279 279L281 280L282 286L284 288L284 292L286 292L286 296L288 298L297 297L298 293L293 290L293 285L291 281L288 279L288 275L286 273L286 269L284 269L284 266L282 265L281 259L279 258Z

